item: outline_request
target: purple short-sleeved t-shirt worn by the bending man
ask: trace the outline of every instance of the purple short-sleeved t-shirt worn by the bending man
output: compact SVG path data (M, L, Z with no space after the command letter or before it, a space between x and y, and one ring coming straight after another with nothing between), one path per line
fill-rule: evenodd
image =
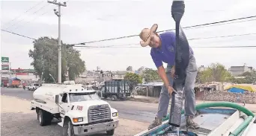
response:
M165 32L159 34L162 45L161 48L151 48L150 55L153 59L153 62L156 65L156 68L162 66L162 62L167 63L168 65L174 65L175 62L175 33L174 32ZM189 46L189 54L194 54L192 48Z

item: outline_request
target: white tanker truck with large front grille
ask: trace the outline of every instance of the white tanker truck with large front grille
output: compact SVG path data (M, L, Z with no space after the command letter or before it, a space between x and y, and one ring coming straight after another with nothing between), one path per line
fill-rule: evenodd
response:
M40 126L59 120L64 136L114 135L118 127L118 111L100 100L97 91L82 85L43 84L33 93L31 110L37 113Z

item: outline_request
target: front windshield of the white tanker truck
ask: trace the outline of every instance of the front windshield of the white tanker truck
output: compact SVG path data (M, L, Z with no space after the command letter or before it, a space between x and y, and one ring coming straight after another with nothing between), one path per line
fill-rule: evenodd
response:
M100 100L100 97L96 94L96 92L70 93L70 103L87 100Z

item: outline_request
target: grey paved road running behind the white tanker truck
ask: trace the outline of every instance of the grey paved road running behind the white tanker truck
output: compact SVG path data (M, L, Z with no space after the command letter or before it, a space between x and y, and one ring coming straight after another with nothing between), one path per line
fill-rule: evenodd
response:
M23 90L22 88L1 88L1 95L19 97L25 100L33 100L33 91ZM150 123L156 114L157 103L141 103L134 101L111 101L112 108L119 112L119 117L129 120Z

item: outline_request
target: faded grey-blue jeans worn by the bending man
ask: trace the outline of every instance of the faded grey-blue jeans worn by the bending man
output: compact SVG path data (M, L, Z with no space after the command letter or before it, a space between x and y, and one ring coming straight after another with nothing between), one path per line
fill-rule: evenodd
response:
M173 85L173 78L171 78L171 68L172 65L167 65L166 75L170 82L170 85ZM189 56L189 65L186 68L186 81L184 86L184 94L185 94L185 115L186 116L195 116L195 77L198 74L198 67L195 62L195 56ZM162 85L160 97L159 97L159 105L156 117L162 118L165 117L168 111L170 101L170 95L168 94L168 90L165 85Z

